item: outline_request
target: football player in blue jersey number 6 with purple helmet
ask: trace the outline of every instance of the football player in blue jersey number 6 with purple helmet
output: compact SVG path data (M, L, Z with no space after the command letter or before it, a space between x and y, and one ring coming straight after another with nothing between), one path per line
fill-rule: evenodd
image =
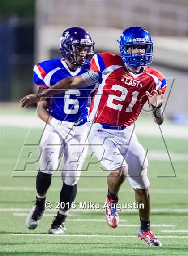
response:
M85 29L71 27L60 37L61 59L51 59L34 66L34 83L45 90L63 78L81 75L90 69L94 55L94 40ZM45 210L45 198L51 185L53 171L58 170L64 154L60 209L52 222L49 234L64 234L65 219L77 193L88 146L88 99L96 85L81 90L69 90L38 103L38 116L47 123L40 142L41 156L36 178L36 203L26 220L29 229L35 229Z

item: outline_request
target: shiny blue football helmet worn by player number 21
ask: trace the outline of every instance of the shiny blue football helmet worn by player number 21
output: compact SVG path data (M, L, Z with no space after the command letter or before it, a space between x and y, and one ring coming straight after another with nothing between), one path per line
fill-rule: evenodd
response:
M153 43L148 31L142 27L129 27L120 36L120 53L124 63L131 66L145 66L152 63ZM128 48L144 45L145 53L129 53Z

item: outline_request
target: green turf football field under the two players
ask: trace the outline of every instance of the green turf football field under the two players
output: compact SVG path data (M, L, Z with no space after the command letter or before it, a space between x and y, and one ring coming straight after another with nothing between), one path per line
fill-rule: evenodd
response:
M55 175L47 194L47 201L53 203L52 209L45 212L37 229L27 229L25 220L34 204L31 201L35 199L35 178L11 178L27 131L27 128L1 127L0 255L188 255L188 178L187 162L184 159L172 160L175 173L169 160L161 161L159 156L159 159L149 161L148 175L153 209L151 224L163 247L146 246L137 238L137 211L120 211L120 225L117 229L111 229L104 220L104 211L79 210L79 202L84 201L103 206L107 193L107 173L100 170L100 164L92 164L87 171L82 172L78 183L77 208L70 212L66 223L67 235L46 234L57 211L55 202L59 201L60 175ZM39 135L40 130L34 129L30 135L31 141ZM145 149L158 152L165 150L160 137L138 136L138 139ZM181 156L187 153L185 139L167 138L166 144L169 152L173 154ZM89 162L90 158L87 158L83 169L86 169ZM31 169L30 167L29 170ZM32 175L36 174L32 172ZM134 202L133 190L128 181L123 184L119 198L121 203Z

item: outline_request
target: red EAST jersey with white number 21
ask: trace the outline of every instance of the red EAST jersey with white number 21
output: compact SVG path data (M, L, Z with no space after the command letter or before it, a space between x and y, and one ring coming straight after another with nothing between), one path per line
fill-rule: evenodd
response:
M144 67L142 73L128 71L120 56L110 52L95 54L90 69L100 73L101 83L90 107L94 123L130 126L148 101L145 94L167 88L167 80L156 69Z

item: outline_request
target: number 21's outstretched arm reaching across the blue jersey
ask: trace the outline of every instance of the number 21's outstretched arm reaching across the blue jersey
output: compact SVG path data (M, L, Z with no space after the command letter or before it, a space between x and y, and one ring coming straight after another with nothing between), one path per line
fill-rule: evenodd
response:
M49 89L43 91L42 93L38 94L29 94L21 99L20 107L28 107L30 104L39 102L41 98L48 98L54 96L56 94L64 93L65 91L75 89L75 88L82 88L85 85L93 85L94 83L98 82L99 74L92 70L84 73L80 76L74 76L70 78L64 78L57 82L55 85L52 85Z

